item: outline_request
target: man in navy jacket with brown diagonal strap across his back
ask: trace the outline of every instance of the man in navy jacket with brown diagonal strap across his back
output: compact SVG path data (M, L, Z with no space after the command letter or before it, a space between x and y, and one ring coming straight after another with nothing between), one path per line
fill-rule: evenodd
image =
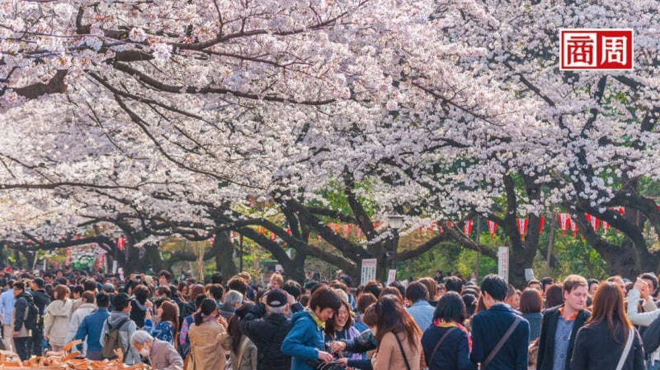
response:
M483 303L487 310L472 319L472 354L470 359L481 364L481 370L527 370L527 344L529 323L520 318L504 303L507 283L498 275L487 275L481 281ZM516 329L495 354L492 361L484 364L509 327L520 318ZM485 365L485 366L484 366Z

